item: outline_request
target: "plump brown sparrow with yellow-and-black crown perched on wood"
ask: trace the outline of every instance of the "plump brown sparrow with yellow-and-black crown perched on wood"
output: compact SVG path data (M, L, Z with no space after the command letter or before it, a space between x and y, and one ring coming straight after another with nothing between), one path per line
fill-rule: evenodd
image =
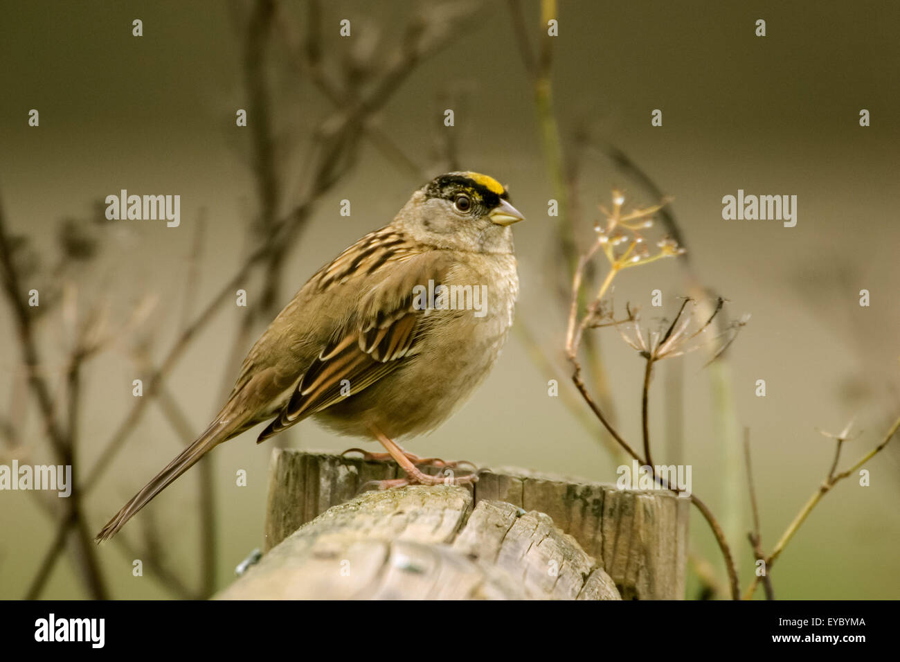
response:
M419 458L396 440L445 422L499 357L518 297L510 226L524 218L507 187L481 173L450 172L421 186L392 222L302 286L249 350L209 426L121 507L96 542L120 531L211 449L263 422L257 443L309 417L381 442L387 453L369 455L393 458L406 472L383 488L446 482L416 467L440 460ZM477 474L454 478L474 480Z

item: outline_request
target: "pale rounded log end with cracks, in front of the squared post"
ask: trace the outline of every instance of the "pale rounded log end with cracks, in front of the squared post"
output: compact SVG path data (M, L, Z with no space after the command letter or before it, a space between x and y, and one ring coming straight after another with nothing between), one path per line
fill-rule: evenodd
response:
M463 487L412 485L337 505L271 549L220 599L619 599L542 512Z

